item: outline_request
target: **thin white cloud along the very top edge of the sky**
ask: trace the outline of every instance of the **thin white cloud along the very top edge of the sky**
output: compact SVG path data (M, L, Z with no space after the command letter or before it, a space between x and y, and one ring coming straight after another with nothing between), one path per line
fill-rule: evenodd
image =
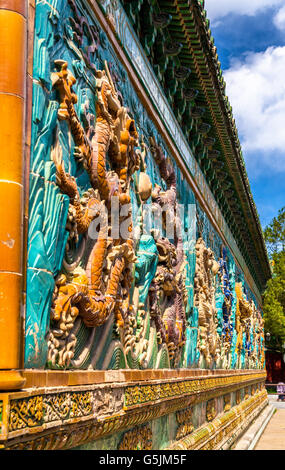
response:
M222 18L228 13L255 15L269 7L284 5L284 0L206 0L205 8L210 20Z

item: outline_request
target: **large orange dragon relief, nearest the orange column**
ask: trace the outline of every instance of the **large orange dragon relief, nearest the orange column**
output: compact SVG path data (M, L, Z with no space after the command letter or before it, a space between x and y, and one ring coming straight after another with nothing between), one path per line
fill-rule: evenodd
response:
M76 79L67 62L57 60L58 69L52 74L60 106L58 119L66 120L75 143L74 156L87 170L91 188L80 199L76 180L65 171L57 141L52 152L56 166L57 184L69 196L69 239L63 272L56 279L51 309L52 328L49 335L48 361L55 366L68 367L76 345L74 321L80 316L87 327L104 324L114 313L117 325L124 327L130 306L133 263L136 260L132 239L130 209L120 222L128 224L127 238L110 235L111 199L117 197L119 209L130 203L131 175L139 167L135 152L138 134L134 121L121 106L108 66L96 71L98 95L95 127L82 127L75 111L76 94L72 91ZM91 122L87 113L87 122ZM110 159L111 170L106 169ZM99 234L90 237L91 222L100 215ZM80 237L80 241L79 240ZM70 262L72 246L76 260ZM74 258L74 257L73 257Z

